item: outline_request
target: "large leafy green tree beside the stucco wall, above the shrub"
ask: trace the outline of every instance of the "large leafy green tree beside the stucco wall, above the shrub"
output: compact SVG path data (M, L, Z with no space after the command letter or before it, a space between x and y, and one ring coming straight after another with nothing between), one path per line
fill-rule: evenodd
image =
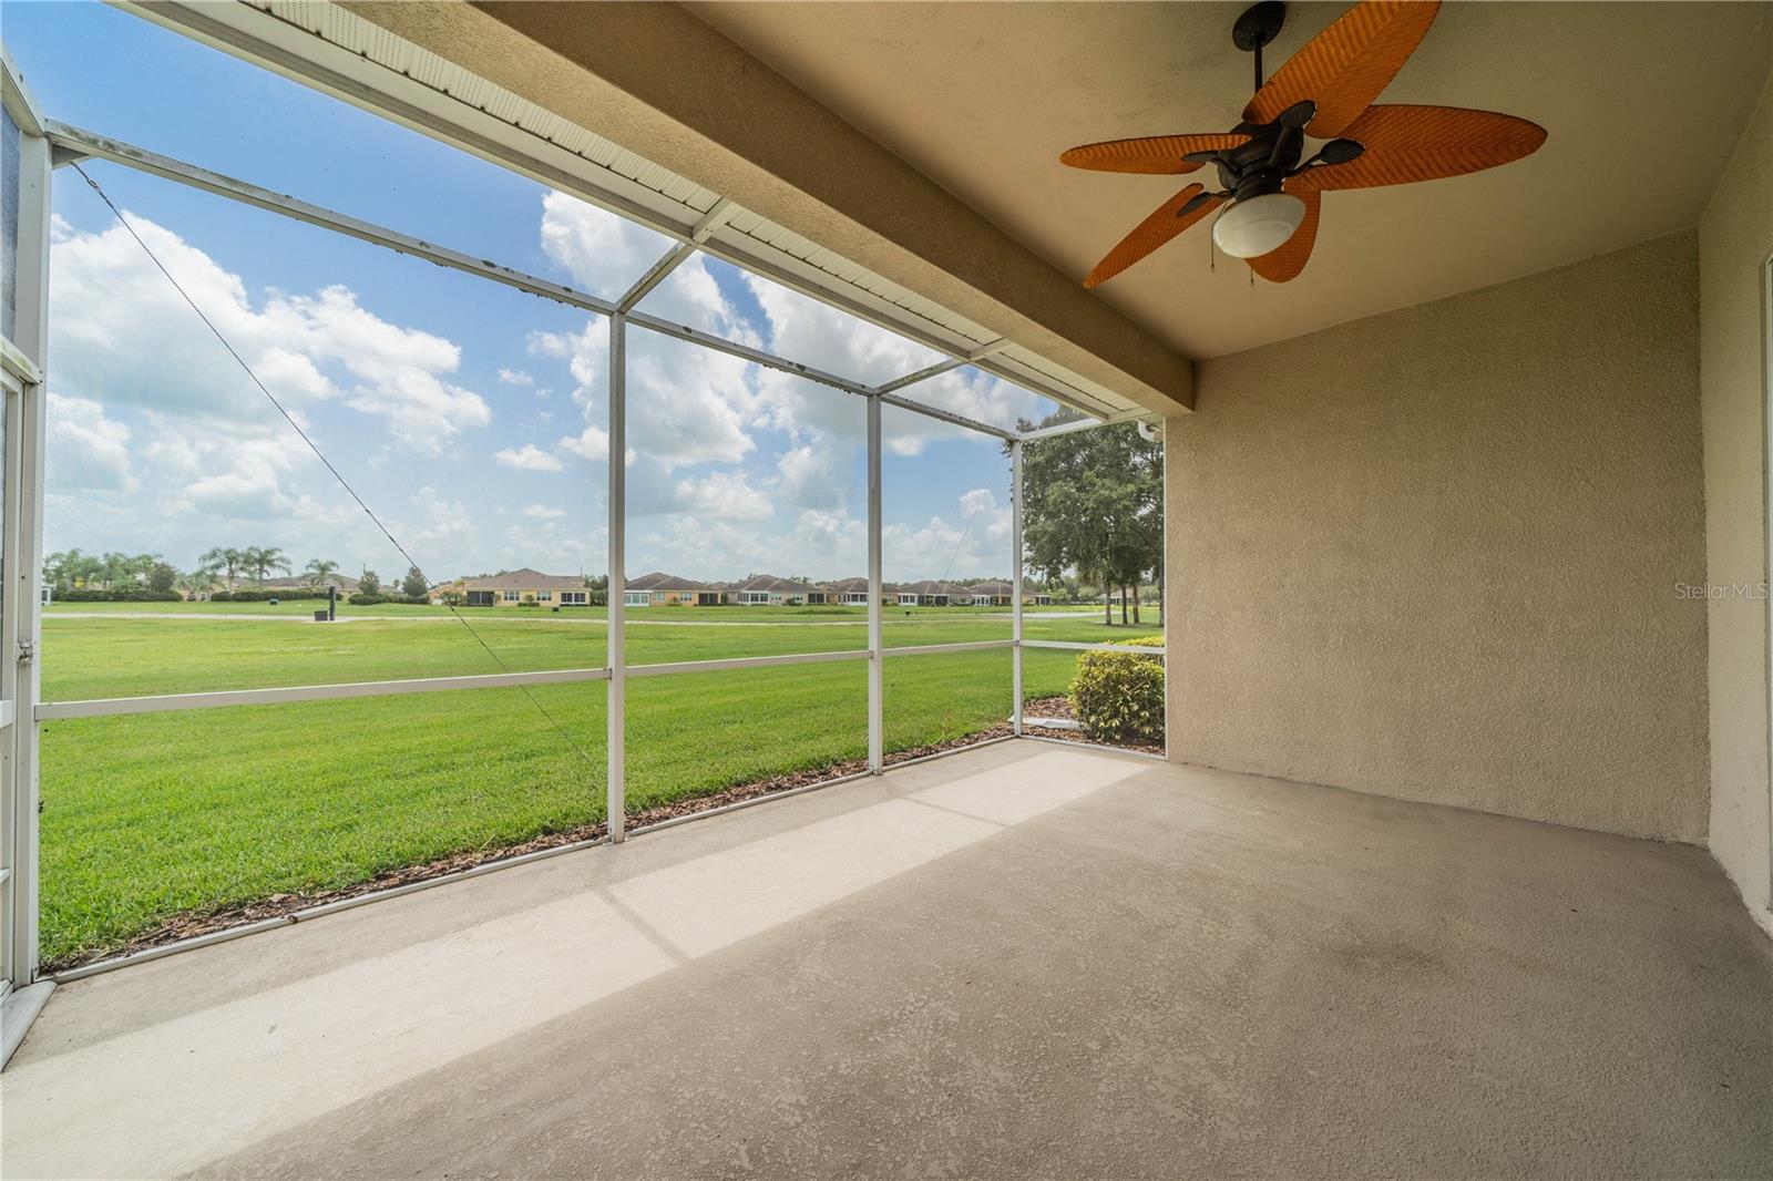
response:
M1074 571L1101 585L1108 624L1112 592L1122 590L1128 622L1128 599L1163 564L1163 447L1131 422L1023 443L1021 489L1028 566L1048 580Z

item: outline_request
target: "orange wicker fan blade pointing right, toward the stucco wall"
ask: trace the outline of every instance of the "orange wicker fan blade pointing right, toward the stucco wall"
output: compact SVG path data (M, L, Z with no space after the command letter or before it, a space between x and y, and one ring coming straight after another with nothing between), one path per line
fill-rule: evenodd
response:
M1344 135L1367 151L1340 165L1310 168L1287 192L1378 188L1495 168L1539 151L1537 122L1459 106L1369 106Z

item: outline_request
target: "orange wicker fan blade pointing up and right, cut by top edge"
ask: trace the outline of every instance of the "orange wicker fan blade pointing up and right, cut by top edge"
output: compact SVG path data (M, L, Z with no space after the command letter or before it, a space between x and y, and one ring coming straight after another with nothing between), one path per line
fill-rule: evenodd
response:
M1262 83L1243 117L1271 122L1301 99L1317 103L1305 131L1342 135L1410 59L1434 21L1440 0L1362 0L1305 43Z

